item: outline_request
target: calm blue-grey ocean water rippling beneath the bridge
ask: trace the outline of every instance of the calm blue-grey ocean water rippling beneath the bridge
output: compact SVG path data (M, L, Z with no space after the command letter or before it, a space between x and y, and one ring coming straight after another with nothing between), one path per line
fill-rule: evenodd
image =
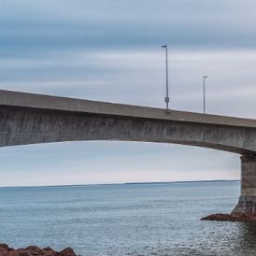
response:
M256 226L229 213L238 181L0 188L0 242L85 255L256 255Z

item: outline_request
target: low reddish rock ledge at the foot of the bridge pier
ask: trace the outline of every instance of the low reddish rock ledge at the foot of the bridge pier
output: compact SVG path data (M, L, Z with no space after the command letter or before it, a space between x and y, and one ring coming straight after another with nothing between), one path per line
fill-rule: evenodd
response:
M201 220L218 220L218 221L256 221L256 215L248 214L211 214L209 216L203 217Z

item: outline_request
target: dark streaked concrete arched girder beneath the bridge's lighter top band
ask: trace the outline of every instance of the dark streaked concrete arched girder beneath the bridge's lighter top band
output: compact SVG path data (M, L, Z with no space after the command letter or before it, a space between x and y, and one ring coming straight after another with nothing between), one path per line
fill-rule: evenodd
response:
M256 130L253 128L0 108L0 147L79 140L174 143L256 154Z

